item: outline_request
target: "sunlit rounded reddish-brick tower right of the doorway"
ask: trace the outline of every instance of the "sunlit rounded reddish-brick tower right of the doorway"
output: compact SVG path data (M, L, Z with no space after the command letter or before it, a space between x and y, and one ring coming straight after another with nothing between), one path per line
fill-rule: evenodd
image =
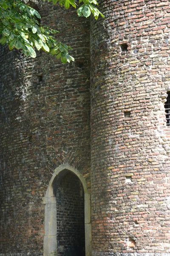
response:
M100 3L105 20L91 21L92 255L169 255L170 2Z

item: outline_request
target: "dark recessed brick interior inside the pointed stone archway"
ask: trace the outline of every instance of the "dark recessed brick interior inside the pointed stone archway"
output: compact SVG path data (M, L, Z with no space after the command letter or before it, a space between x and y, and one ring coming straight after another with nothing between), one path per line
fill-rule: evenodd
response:
M79 178L67 172L56 192L57 255L85 256L84 189Z

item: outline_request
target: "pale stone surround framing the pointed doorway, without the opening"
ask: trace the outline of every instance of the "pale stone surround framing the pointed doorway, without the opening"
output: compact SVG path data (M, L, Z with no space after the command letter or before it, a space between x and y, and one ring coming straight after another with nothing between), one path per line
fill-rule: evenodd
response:
M91 256L91 202L85 178L68 163L60 165L54 170L48 185L43 203L45 204L45 235L44 235L44 256L57 256L57 207L56 196L54 195L54 182L60 183L66 172L72 172L82 183L85 195L85 256Z

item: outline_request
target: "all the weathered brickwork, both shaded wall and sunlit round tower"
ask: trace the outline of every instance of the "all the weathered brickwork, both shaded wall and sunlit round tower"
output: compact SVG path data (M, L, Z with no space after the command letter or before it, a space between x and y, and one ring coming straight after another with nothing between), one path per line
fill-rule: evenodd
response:
M91 191L92 256L169 256L170 2L100 0L91 32L41 4L76 61L0 51L0 256L43 254L42 201L63 163Z

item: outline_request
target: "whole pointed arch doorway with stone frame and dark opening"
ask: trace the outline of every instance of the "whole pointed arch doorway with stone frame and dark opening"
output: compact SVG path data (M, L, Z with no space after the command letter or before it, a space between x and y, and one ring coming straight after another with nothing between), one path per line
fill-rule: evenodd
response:
M91 256L90 194L85 178L63 164L45 195L44 256Z

